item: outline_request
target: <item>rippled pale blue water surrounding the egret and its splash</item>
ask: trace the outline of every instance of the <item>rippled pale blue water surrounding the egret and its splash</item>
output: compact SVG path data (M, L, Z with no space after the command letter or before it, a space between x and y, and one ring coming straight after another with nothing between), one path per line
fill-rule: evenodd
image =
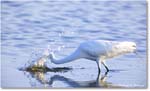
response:
M1 14L2 87L146 87L145 1L2 1ZM134 41L142 59L132 53L109 59L111 71L104 74L103 68L101 80L96 63L86 59L48 63L73 68L64 73L18 70L47 45L63 58L81 42L96 39Z

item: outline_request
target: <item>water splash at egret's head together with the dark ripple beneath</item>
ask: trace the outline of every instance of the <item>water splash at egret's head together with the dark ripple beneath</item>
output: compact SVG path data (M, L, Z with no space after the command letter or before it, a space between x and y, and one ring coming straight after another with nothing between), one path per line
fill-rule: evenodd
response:
M61 47L59 47L61 49ZM28 72L67 72L71 70L70 67L49 67L47 66L48 63L48 56L49 53L52 52L52 48L50 45L47 48L40 48L36 49L31 53L31 56L27 63L24 65L23 68L20 70L28 71ZM59 51L57 49L57 51Z

